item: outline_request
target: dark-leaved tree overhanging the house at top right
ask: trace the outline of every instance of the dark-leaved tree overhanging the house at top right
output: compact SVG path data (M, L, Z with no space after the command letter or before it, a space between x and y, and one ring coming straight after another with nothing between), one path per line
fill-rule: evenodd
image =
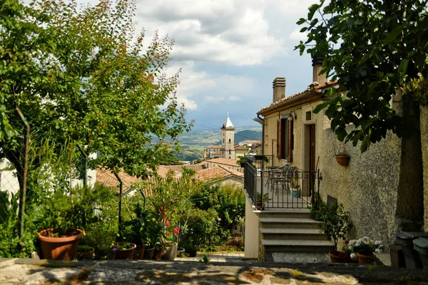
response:
M362 141L364 152L388 130L406 135L412 121L397 115L389 101L412 79L428 78L427 3L321 0L297 22L307 32L307 41L296 46L300 54L324 56L322 73L347 92L331 90L331 100L316 109L327 108L339 140ZM350 123L355 128L349 131Z

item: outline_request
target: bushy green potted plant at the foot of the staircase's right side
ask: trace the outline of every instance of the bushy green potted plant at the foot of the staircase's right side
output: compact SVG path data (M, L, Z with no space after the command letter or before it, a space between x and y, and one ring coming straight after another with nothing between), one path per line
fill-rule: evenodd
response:
M323 208L320 214L324 222L318 224L318 227L334 244L334 250L329 252L330 260L332 263L342 262L343 253L337 252L337 242L339 239L345 239L345 234L352 227L349 215L343 209L343 205L337 202L332 203L330 207Z

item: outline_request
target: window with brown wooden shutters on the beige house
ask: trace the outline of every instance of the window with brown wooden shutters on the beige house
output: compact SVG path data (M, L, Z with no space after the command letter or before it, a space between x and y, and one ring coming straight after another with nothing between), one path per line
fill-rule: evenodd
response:
M288 120L288 117L277 120L277 158L292 162L292 150L294 150L293 120Z

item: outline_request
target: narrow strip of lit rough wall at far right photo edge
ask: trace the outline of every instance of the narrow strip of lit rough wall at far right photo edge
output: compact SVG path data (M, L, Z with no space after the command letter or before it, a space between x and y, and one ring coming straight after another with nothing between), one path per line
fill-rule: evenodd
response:
M424 231L428 232L428 106L420 106L422 165L424 167Z

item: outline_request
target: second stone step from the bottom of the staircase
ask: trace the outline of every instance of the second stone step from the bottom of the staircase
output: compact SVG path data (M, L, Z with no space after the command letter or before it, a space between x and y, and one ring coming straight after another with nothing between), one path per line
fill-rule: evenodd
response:
M262 239L265 252L331 252L333 244L323 240Z

